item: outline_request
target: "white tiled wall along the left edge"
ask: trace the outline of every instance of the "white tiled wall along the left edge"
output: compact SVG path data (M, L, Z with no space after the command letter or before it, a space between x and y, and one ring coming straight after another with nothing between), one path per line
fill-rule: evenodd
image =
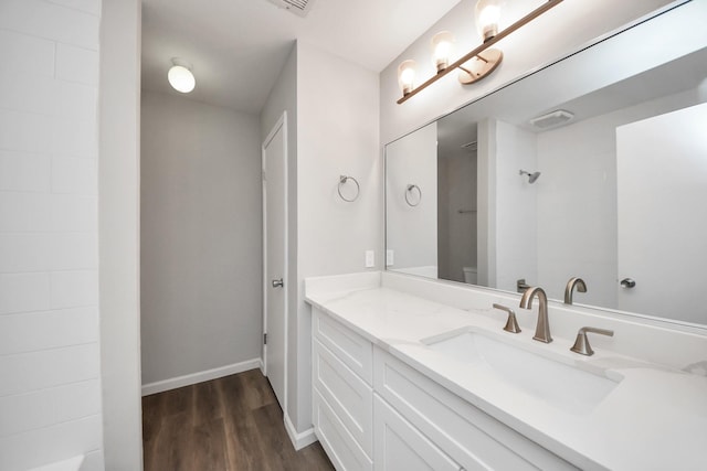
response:
M103 469L101 2L0 2L0 469Z

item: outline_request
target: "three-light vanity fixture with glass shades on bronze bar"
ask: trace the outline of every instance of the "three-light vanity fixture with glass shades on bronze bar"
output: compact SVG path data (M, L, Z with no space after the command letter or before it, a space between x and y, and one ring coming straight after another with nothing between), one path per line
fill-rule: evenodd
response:
M510 26L498 31L503 0L478 0L476 2L476 22L483 43L463 55L453 63L450 63L452 41L454 36L449 31L437 33L432 39L433 61L437 67L436 75L429 78L420 86L414 86L414 61L404 61L398 67L398 83L402 92L402 98L398 104L402 104L415 96L446 74L458 68L460 82L462 84L473 84L494 72L503 61L503 53L497 49L492 49L494 44L503 40L514 31L525 26L548 10L557 7L562 0L548 0ZM435 41L436 40L436 41ZM446 54L446 56L445 56ZM404 75L404 77L403 77ZM412 78L410 78L412 77Z

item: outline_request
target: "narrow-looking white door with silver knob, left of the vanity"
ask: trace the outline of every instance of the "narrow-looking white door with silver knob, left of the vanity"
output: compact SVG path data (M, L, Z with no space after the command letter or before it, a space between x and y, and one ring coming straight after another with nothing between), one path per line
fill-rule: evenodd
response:
M283 410L287 397L287 119L263 142L263 347L265 375Z

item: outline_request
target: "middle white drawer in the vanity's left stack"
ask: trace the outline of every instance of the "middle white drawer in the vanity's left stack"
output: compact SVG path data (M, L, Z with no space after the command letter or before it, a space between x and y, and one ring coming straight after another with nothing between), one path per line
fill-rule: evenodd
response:
M314 340L314 387L370 457L373 448L373 390L318 340Z

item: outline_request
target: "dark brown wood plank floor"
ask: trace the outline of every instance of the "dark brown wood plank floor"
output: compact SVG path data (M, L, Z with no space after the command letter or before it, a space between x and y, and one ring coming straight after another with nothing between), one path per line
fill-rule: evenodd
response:
M334 469L319 442L295 451L260 370L145 396L143 446L146 471Z

